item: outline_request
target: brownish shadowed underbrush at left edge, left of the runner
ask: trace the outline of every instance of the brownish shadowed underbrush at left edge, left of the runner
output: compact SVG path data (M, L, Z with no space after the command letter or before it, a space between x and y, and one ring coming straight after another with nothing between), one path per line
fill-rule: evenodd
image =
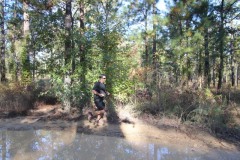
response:
M56 104L58 99L55 96L41 94L48 87L47 81L42 80L28 85L0 84L0 113L5 116L24 115L41 104Z

